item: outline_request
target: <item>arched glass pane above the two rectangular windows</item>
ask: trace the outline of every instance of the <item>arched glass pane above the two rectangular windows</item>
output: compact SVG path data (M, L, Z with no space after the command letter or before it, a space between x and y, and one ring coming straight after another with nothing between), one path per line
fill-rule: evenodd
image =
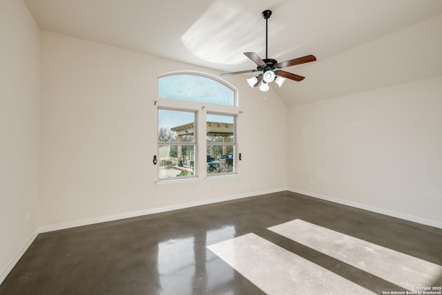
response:
M208 77L173 75L158 79L158 96L233 106L235 95L231 88Z

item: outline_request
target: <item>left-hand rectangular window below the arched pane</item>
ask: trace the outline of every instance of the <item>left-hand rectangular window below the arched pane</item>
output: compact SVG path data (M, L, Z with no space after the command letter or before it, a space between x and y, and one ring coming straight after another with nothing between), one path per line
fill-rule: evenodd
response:
M195 176L195 112L158 109L159 179Z

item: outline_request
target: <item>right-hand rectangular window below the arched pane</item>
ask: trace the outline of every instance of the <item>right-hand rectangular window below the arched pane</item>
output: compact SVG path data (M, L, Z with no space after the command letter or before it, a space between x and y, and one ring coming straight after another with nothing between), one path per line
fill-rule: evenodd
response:
M235 172L236 116L206 115L207 175Z

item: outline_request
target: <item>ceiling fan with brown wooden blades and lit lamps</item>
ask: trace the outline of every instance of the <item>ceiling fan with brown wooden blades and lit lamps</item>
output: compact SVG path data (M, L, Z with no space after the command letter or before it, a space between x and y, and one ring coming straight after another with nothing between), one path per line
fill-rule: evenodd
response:
M249 59L256 64L256 70L240 70L239 72L222 73L222 76L261 72L260 75L247 79L247 83L249 83L251 88L261 84L260 91L268 91L269 83L273 81L275 81L278 86L282 86L285 79L291 79L297 82L305 79L305 77L300 75L292 74L286 72L285 70L279 70L279 68L287 68L288 66L295 66L297 64L305 64L307 62L316 61L316 57L314 57L314 55L306 55L305 57L298 57L296 59L290 59L280 63L278 63L276 59L269 59L267 57L267 19L269 19L270 16L271 10L264 10L262 12L262 17L265 19L265 59L261 59L261 57L259 57L259 55L256 53L244 53L245 56L249 57Z

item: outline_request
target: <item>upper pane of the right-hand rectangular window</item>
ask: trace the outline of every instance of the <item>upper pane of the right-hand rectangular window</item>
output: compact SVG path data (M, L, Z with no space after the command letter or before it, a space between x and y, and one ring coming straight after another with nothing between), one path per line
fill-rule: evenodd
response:
M206 117L206 142L235 142L235 117L233 115L213 115Z

